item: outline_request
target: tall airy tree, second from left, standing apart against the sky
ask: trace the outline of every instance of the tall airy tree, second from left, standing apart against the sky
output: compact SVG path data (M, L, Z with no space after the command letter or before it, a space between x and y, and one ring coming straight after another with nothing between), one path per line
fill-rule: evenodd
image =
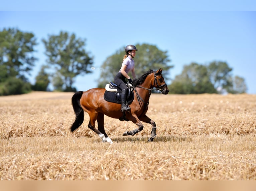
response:
M48 66L54 70L52 81L58 91L76 91L73 87L76 76L92 72L88 67L93 58L84 49L85 41L76 38L74 33L62 31L59 35L48 35L47 40L42 39Z

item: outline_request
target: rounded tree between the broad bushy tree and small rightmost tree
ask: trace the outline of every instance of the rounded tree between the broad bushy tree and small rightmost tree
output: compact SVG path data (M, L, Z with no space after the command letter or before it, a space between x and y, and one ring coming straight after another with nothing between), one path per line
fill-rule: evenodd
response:
M208 65L210 80L216 90L232 87L232 68L226 62L213 61Z

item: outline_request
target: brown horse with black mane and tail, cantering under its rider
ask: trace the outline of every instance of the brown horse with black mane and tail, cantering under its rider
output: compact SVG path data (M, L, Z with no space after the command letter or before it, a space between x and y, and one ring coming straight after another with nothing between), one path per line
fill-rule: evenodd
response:
M150 119L146 112L148 110L148 101L151 95L151 90L156 88L162 94L168 94L169 89L164 82L162 76L162 69L157 71L149 70L140 78L133 80L135 87L134 100L130 104L130 112L126 111L126 119L138 125L137 129L124 132L123 136L135 135L143 129L141 121L152 125L151 135L148 141L153 141L156 136L156 124ZM70 130L75 131L84 122L84 111L90 116L88 127L96 132L103 142L113 143L108 137L104 129L104 115L112 118L122 118L121 105L118 103L108 102L104 99L103 95L105 89L93 88L86 92L79 91L72 96L72 106L76 114L74 123L71 125ZM95 128L95 121L98 122L98 129Z

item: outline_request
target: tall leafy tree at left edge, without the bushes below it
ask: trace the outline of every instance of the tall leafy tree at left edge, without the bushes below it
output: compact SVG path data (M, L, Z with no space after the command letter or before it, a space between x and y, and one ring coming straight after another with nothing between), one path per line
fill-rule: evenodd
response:
M9 77L27 81L25 75L37 60L33 57L34 46L37 45L33 33L9 28L0 31L0 82Z

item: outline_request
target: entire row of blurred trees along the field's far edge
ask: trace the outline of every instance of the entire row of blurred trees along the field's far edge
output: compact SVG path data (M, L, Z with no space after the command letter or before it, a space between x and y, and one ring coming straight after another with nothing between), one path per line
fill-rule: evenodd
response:
M60 31L57 35L48 35L41 40L45 47L46 61L31 84L27 75L31 75L37 58L34 57L38 45L33 33L22 32L17 28L0 31L0 95L25 94L33 91L48 91L51 83L54 91L76 92L75 79L79 75L93 72L93 56L86 51L86 39L78 38L74 33ZM226 62L213 61L208 65L191 63L183 67L180 75L170 78L168 52L155 45L136 44L134 58L136 75L139 77L149 69L163 68L168 87L172 94L202 93L245 93L247 86L244 78L232 75L232 68ZM121 47L102 64L98 87L105 87L113 81L119 71L124 47Z

